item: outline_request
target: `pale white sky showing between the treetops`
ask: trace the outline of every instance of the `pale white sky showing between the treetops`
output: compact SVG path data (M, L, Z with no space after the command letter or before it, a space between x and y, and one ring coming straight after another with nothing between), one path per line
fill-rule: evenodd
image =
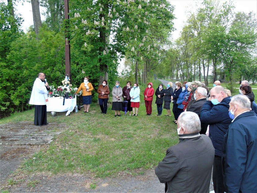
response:
M7 3L7 0L0 0ZM19 1L19 0L17 0ZM22 29L24 32L27 32L28 27L33 25L33 15L32 15L32 8L31 4L28 2L20 1L17 4L17 11L16 13L20 13L22 17L24 18L24 22L22 25ZM202 0L169 0L171 5L175 6L175 10L173 14L175 14L174 27L176 30L172 32L173 39L176 40L179 37L180 31L182 31L182 27L184 26L184 22L188 18L188 14L186 14L187 11L195 11L195 3L201 3ZM225 2L225 0L221 0L221 2ZM249 13L250 11L253 11L256 14L257 17L257 0L233 0L235 5L235 11L243 11L246 13ZM42 15L43 8L40 7L40 13L41 13L41 20L43 21L45 17Z

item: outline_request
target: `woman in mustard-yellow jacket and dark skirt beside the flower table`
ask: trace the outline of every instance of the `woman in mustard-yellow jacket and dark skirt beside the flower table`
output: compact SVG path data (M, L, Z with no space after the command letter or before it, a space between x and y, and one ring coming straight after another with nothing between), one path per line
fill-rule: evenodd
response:
M86 76L84 78L84 82L80 84L78 90L76 91L75 94L78 94L79 91L82 90L82 100L83 100L83 105L84 105L84 112L88 112L90 104L92 103L92 90L94 90L93 85L88 82L89 77Z

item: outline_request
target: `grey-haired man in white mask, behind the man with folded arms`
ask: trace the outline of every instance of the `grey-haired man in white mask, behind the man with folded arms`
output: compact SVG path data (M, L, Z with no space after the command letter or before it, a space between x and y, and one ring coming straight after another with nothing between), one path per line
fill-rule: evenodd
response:
M207 101L206 96L207 90L203 87L198 87L194 94L195 102L189 107L187 111L195 112L200 117L203 104ZM208 124L201 123L200 134L205 134L207 127Z

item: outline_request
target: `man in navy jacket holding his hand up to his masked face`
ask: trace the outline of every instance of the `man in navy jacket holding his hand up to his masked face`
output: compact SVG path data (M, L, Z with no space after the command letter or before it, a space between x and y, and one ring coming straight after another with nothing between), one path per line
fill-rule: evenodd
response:
M203 104L200 121L209 125L209 137L215 148L215 156L212 169L212 180L215 193L227 192L223 184L221 150L224 135L232 119L228 115L230 96L221 86L213 87L210 98Z

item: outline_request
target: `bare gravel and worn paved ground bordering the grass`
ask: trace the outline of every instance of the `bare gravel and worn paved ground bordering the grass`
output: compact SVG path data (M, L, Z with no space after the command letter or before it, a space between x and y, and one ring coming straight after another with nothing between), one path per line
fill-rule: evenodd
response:
M51 128L59 128L58 132ZM144 171L143 175L131 176L120 172L116 178L93 178L90 174L50 175L40 173L25 176L13 172L24 159L33 157L40 148L47 146L54 135L65 128L63 124L49 123L35 126L33 122L19 122L0 125L0 185L1 190L9 192L164 192L154 170ZM8 185L8 180L20 180L18 184ZM34 187L27 187L30 181L38 180ZM90 184L96 185L93 190ZM213 190L212 184L210 191Z

